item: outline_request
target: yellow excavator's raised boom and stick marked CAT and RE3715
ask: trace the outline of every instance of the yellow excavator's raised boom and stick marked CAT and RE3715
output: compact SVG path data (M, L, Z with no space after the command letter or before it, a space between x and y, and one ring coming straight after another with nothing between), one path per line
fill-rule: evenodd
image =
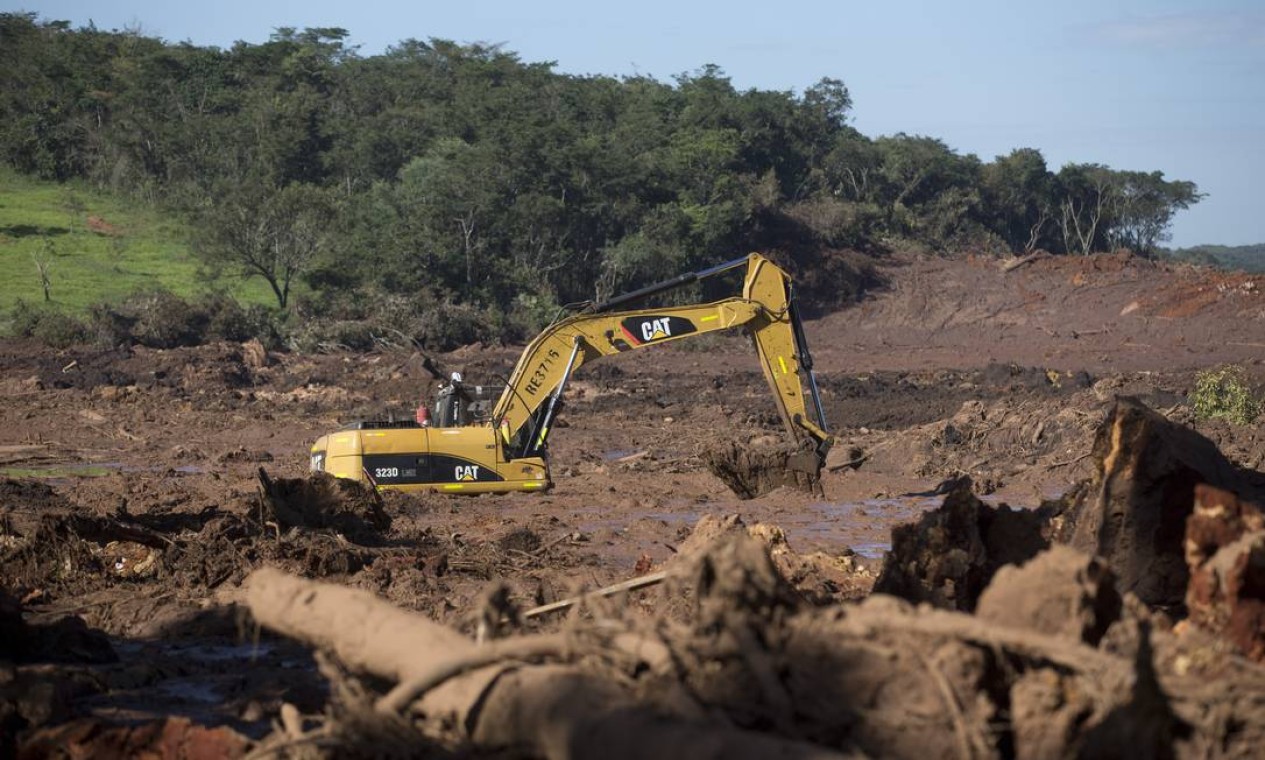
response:
M746 267L741 295L711 303L665 309L616 310L629 301ZM492 422L510 458L536 457L567 381L586 362L672 340L745 328L755 344L764 377L782 421L799 444L811 441L817 467L830 448L812 358L803 338L791 279L758 253L711 269L682 274L562 319L528 346L492 412ZM807 381L813 415L803 393Z

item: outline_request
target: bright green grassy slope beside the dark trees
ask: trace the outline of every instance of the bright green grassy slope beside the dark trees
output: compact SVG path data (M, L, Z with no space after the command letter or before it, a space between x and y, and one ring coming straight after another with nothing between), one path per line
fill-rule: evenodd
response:
M49 303L70 312L142 288L188 297L216 285L243 302L275 302L263 281L201 278L178 220L81 183L42 182L5 167L0 167L0 314L19 298L44 301L40 264Z

